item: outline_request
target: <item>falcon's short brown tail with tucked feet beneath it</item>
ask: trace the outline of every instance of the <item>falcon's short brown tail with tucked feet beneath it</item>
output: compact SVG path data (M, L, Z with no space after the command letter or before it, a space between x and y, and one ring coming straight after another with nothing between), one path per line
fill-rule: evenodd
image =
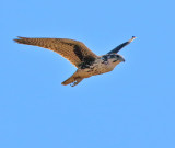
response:
M71 76L70 78L68 78L66 81L63 81L61 84L67 86L69 83L72 83L71 87L77 86L79 82L81 82L84 78L81 77L73 77Z

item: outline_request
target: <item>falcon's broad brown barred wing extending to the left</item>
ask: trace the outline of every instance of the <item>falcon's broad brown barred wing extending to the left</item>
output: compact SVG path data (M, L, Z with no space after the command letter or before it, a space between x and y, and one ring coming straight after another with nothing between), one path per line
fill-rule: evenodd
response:
M48 48L60 54L71 64L78 67L86 58L96 58L97 56L90 50L83 43L67 38L27 38L19 37L14 39L20 44L27 44Z

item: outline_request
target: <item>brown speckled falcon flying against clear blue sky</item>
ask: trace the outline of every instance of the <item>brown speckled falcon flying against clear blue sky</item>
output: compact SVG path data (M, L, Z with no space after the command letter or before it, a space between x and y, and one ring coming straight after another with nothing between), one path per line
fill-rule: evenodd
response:
M89 49L82 42L67 38L28 38L18 37L14 39L19 44L44 47L54 50L68 59L78 69L77 71L62 82L63 86L71 87L80 83L84 78L95 75L102 75L112 71L118 64L125 61L121 55L117 53L130 44L136 37L125 42L107 53L106 55L97 56Z

